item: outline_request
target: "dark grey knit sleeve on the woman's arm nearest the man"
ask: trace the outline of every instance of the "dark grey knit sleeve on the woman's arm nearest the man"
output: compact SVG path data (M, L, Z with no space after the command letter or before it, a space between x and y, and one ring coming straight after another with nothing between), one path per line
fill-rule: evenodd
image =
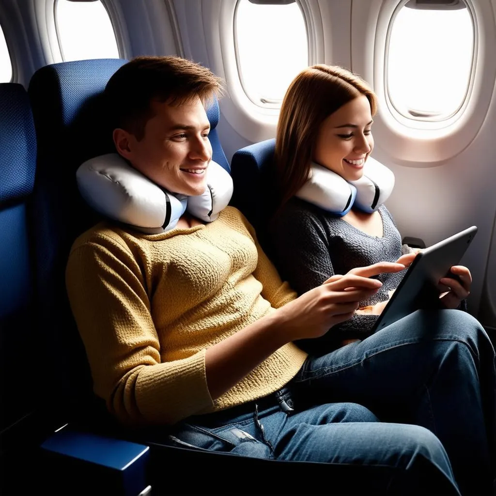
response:
M281 275L299 295L322 284L335 274L332 247L324 228L314 216L299 211L276 219L272 243ZM333 326L325 340L338 343L343 339L363 339L370 335L377 315L355 313L349 320ZM305 340L310 345L310 340ZM311 340L317 341L317 340ZM305 351L313 351L305 345Z

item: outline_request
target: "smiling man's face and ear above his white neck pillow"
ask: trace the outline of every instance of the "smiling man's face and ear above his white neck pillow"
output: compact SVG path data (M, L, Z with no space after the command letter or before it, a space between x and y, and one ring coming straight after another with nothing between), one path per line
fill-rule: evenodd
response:
M137 140L123 129L114 131L117 150L154 183L172 193L197 195L206 188L212 158L210 123L199 98L179 106L152 101L153 117Z

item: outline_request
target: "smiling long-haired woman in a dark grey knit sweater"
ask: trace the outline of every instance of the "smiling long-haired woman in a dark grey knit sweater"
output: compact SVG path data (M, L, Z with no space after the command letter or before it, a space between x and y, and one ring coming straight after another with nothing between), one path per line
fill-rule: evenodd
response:
M303 96L310 94L311 99ZM298 197L312 167L323 167L347 182L362 178L373 149L372 116L376 109L376 96L367 83L342 67L315 65L305 69L288 89L276 140L279 208L273 219L273 235L278 268L300 294L335 273L345 274L383 260L396 261L405 254L408 256L399 261L408 265L415 256L416 250L401 245L384 204L364 212L355 201L342 215ZM391 182L389 177L384 181ZM290 251L286 249L289 243L294 247ZM445 291L441 302L454 309L464 306L472 278L466 267L455 266L451 272L458 277L440 281ZM333 336L327 339L366 337L403 274L378 276L383 283L380 291L361 302L361 309L339 326L339 331L334 328Z

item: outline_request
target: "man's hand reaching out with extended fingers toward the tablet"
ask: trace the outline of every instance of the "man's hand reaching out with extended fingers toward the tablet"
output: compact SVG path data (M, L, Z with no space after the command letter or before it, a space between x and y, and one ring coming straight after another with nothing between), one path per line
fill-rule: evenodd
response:
M290 333L291 341L322 336L333 325L351 318L359 302L378 291L382 283L370 277L404 268L400 263L379 262L357 267L345 275L334 275L277 310L281 328Z

